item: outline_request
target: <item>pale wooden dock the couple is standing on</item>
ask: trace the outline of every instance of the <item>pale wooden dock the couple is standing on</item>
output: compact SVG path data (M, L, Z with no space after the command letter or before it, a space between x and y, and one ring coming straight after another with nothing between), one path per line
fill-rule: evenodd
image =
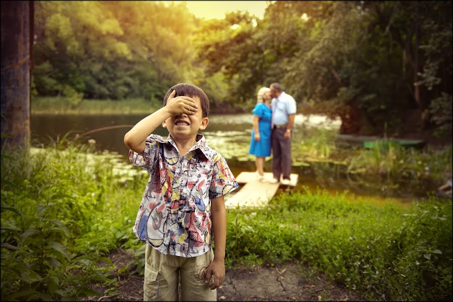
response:
M298 177L299 176L297 174L291 174L289 176L290 187L294 187L297 184ZM241 188L238 192L233 191L232 193L228 194L231 195L231 197L226 198L225 207L254 208L266 206L280 186L286 187L285 185L282 185L280 183L269 183L269 180L271 179L272 173L270 172L264 173L264 182L259 182L257 180L255 172L241 172L241 174L236 177L236 181L241 185Z

